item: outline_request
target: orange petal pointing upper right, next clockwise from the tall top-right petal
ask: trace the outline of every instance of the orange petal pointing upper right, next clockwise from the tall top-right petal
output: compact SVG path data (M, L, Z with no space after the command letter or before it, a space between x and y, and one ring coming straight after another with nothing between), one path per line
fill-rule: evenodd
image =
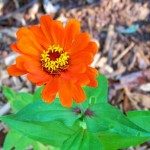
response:
M81 50L85 49L90 41L90 36L88 33L80 33L77 35L71 45L71 48L67 51L70 55L79 53Z

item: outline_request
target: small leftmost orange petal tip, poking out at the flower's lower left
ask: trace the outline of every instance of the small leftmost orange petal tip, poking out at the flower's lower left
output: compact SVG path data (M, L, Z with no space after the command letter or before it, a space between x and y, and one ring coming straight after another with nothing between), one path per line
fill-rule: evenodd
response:
M16 67L16 65L11 65L7 68L7 71L10 76L21 76L26 74L27 72L25 70L20 70Z

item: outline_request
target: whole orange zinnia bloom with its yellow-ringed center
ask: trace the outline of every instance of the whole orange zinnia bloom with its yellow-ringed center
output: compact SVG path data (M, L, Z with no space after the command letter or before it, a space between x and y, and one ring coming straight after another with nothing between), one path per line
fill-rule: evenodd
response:
M51 103L59 94L61 104L72 105L86 99L82 86L97 85L97 70L89 64L98 48L88 33L80 32L80 23L71 19L64 27L49 15L40 18L40 26L22 27L11 49L21 54L7 68L11 76L27 74L36 85L45 85L42 98Z

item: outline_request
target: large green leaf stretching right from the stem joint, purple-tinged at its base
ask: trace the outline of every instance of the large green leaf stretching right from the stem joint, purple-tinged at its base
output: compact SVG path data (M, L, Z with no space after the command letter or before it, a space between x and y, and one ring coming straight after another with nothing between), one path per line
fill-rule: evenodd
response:
M91 132L108 131L124 136L150 137L150 133L132 123L122 112L107 104L99 103L88 108L92 116L86 116L87 128Z

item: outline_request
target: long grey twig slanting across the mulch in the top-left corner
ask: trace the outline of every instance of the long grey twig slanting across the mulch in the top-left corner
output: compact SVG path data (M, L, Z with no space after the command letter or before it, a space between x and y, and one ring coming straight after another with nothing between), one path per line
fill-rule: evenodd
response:
M11 12L3 17L0 18L0 21L3 21L3 20L6 20L8 18L10 18L11 16L13 16L14 14L18 13L18 12L21 12L21 11L24 11L25 9L31 7L34 3L36 3L37 0L33 0L31 1L30 3L28 3L27 5L24 5L23 7L20 7L18 8L17 10L15 10L14 12Z

